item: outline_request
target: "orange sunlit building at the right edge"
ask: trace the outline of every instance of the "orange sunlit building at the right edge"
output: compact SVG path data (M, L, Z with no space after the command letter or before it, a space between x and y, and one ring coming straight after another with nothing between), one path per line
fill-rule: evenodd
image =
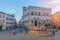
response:
M53 14L51 18L53 25L55 25L57 28L60 27L60 11Z

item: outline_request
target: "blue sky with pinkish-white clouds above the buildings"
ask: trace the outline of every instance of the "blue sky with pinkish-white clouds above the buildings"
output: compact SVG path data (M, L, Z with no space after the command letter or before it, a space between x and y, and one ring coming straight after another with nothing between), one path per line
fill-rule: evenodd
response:
M60 0L0 0L0 11L15 14L20 20L23 15L23 6L41 6L52 8L52 14L60 10Z

